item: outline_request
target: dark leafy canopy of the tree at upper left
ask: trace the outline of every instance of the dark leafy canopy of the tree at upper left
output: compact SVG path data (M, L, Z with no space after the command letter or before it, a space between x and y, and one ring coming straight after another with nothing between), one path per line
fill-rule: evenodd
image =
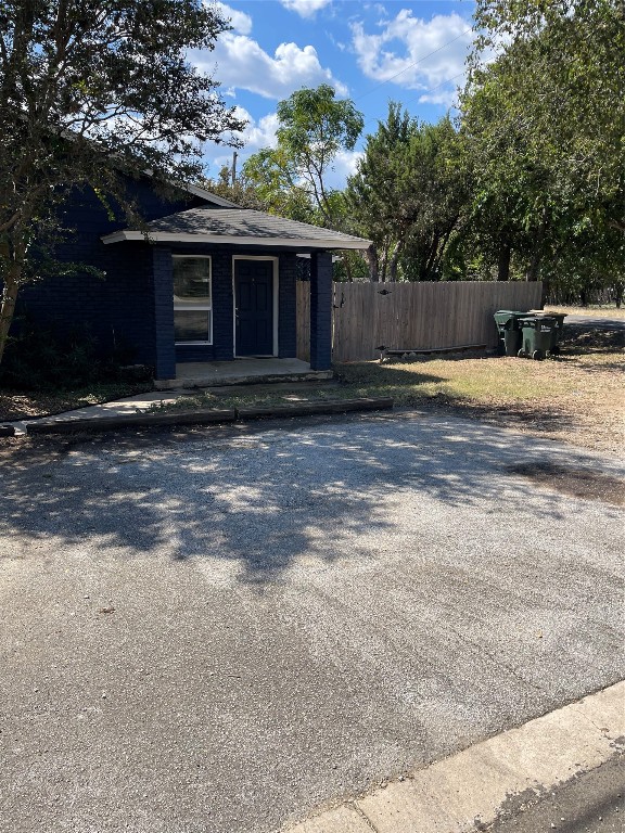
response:
M40 275L73 187L138 219L125 177L196 178L201 143L243 127L184 59L227 28L201 0L3 0L0 360L18 290Z

